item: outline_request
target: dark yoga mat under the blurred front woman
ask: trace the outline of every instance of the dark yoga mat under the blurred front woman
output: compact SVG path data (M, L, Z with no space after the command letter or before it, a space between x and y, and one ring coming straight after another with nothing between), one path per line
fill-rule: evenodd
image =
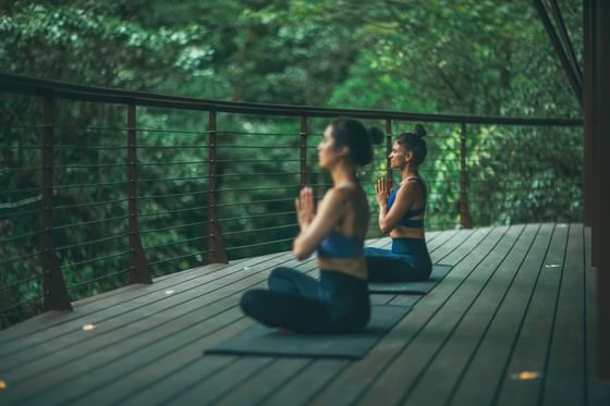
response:
M258 355L307 358L362 358L404 315L406 306L371 306L371 317L362 333L279 334L255 324L206 354Z

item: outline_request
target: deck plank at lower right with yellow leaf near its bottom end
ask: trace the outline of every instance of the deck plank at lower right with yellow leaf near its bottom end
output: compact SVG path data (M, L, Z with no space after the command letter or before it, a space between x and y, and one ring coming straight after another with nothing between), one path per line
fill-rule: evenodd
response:
M540 402L542 379L520 380L522 371L545 374L552 324L565 256L568 227L556 227L534 293L518 329L509 364L497 392L498 405L534 405ZM549 268L560 264L561 268Z

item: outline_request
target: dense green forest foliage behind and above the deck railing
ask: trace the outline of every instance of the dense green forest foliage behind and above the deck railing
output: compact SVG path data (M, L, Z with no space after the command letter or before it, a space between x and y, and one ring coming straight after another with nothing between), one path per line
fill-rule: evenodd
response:
M581 52L581 3L563 1ZM528 2L1 1L0 66L98 87L425 113L578 116ZM39 311L40 106L0 99L2 325ZM327 120L310 120L307 183ZM367 125L385 126L382 122ZM394 122L394 134L414 123ZM57 101L53 243L73 299L127 280L126 109ZM427 124L428 230L460 223L461 128ZM154 275L206 261L207 112L138 108L138 224ZM290 248L300 118L219 114L218 216L230 258ZM580 128L467 127L475 225L578 221ZM361 180L386 174L378 147ZM394 177L396 174L394 174ZM398 181L398 177L395 179ZM371 212L369 236L379 236Z

